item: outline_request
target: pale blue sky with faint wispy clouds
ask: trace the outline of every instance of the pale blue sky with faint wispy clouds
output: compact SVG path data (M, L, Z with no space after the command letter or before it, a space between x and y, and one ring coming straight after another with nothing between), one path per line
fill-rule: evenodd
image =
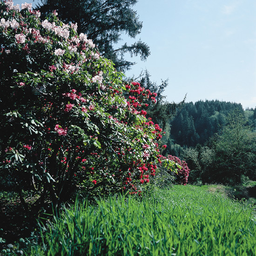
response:
M137 64L128 76L148 69L158 84L168 78L168 101L187 94L187 102L256 107L255 0L138 0L134 9L141 34L135 40L124 36L123 43L141 39L151 54L146 62L133 58Z

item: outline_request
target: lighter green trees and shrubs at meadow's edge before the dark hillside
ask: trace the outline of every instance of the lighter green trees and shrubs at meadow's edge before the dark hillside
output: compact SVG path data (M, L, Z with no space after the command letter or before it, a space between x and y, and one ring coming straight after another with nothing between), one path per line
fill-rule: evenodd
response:
M256 180L256 133L246 125L248 120L240 109L226 120L208 146L183 149L182 159L191 169L189 182L241 184L244 176Z

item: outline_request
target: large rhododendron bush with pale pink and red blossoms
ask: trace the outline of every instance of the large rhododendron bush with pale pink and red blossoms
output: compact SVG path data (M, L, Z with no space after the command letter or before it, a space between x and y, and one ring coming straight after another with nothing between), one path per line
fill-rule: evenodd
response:
M53 202L76 189L139 194L160 164L175 169L145 117L156 95L122 82L76 28L0 2L0 175Z

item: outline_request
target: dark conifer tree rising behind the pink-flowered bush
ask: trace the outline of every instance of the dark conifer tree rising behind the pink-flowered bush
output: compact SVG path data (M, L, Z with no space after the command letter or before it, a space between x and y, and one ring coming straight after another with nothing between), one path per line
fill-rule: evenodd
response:
M37 6L42 17L57 11L65 23L77 23L78 34L87 34L98 46L101 55L112 60L121 71L129 69L134 62L126 61L124 54L140 56L145 61L149 56L149 47L139 40L131 46L127 43L115 49L121 40L121 34L131 38L141 33L142 22L132 7L137 0L41 0Z

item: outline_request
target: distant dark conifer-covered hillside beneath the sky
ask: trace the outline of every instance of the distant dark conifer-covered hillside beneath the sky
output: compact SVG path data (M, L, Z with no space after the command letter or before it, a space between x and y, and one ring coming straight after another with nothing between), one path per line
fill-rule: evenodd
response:
M256 127L256 108L244 111L241 104L217 100L184 103L170 121L168 144L182 147L204 144L222 130L227 123L227 116L235 109L244 114L248 125Z

